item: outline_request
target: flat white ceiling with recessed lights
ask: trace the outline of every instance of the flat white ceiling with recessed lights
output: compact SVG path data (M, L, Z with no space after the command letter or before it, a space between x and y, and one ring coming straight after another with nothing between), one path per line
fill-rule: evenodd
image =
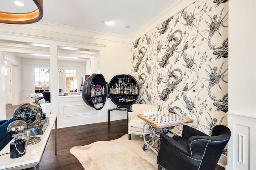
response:
M36 9L32 0L0 0L1 12L30 12ZM43 0L41 21L131 36L160 14L175 0ZM104 25L102 21L110 21ZM124 26L129 25L130 28Z

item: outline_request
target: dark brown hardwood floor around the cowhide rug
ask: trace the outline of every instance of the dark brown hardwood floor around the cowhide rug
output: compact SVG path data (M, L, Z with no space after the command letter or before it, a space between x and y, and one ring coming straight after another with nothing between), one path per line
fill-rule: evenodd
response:
M80 162L69 150L74 146L83 146L96 141L118 139L128 133L127 120L66 127L57 129L57 155L55 155L55 132L52 130L48 144L44 151L41 170L84 170ZM26 170L33 170L29 168ZM225 170L217 165L215 170Z

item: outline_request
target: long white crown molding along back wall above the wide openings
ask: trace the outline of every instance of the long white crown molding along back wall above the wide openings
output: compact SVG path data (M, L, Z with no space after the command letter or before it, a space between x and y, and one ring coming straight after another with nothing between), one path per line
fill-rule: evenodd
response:
M2 25L3 24L3 25ZM1 28L4 25L4 23L0 23ZM31 32L35 32L31 37L38 37L38 38L44 38L44 39L52 39L56 41L68 41L68 42L74 42L74 43L83 43L86 44L84 41L85 38L94 38L94 39L102 39L102 40L108 40L108 41L117 41L117 42L123 42L123 43L130 43L130 37L126 35L119 35L114 33L107 33L102 31L95 31L90 29L84 29L79 27L72 27L68 25L61 25L56 23L48 23L44 21L39 21L37 23L29 24L29 25L8 25L13 27L22 27L22 28L28 28L32 29L32 31L28 31L28 33L20 33L20 32L11 32L12 29L6 29L5 31L1 31L3 33L14 33L17 35L23 35L23 36L30 36ZM41 33L41 32L45 33ZM40 34L40 35L39 35ZM65 36L63 36L65 34ZM49 36L50 35L50 36ZM77 36L77 39L74 40L73 38L68 38L70 36ZM63 38L65 37L65 38ZM84 37L84 38L81 38ZM93 43L89 43L90 45L93 45ZM103 44L96 44L96 46L102 46L105 47L106 45Z

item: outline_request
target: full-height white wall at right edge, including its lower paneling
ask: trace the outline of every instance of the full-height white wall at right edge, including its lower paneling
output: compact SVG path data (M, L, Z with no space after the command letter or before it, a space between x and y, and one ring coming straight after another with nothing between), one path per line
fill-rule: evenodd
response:
M226 170L255 169L256 4L229 1L228 143Z

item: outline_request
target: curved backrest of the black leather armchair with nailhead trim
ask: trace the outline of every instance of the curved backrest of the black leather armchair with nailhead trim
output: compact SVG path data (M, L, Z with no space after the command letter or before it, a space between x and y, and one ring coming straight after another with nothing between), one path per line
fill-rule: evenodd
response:
M228 127L216 125L212 130L212 136L190 137L187 143L188 152L192 158L202 160L200 169L216 166L230 137L231 132Z

